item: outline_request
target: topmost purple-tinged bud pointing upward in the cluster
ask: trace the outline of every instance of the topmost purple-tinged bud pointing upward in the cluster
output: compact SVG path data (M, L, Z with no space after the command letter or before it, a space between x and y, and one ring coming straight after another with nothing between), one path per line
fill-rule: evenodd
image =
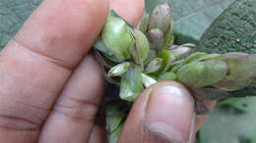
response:
M170 11L171 8L168 2L160 3L151 15L149 28L160 28L165 33L171 21Z

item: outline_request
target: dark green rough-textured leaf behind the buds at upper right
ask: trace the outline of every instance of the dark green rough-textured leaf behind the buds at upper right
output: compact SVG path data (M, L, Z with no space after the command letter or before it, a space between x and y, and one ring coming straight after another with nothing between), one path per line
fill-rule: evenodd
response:
M235 0L211 24L197 47L211 53L256 53L256 0ZM256 83L243 90L231 92L233 96L256 95ZM240 95L239 95L240 94Z

